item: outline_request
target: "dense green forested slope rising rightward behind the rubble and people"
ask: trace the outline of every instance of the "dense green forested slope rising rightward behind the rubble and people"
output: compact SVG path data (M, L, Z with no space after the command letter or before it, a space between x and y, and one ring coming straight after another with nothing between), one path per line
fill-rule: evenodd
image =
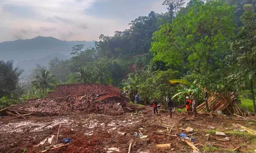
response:
M70 60L53 59L37 74L33 89L52 89L54 75L60 84L112 84L131 101L139 94L143 104L157 98L162 106L166 96L183 105L184 96L201 103L205 91L250 89L256 111L256 1L191 0L184 6L184 0L165 0L163 5L166 13L139 16L127 30L101 34L95 47L74 46Z

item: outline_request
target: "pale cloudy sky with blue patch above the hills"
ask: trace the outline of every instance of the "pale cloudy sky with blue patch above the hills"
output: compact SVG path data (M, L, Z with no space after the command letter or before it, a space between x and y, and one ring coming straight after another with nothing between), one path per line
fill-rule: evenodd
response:
M129 28L138 16L166 12L163 1L0 0L0 42L35 36L98 40Z

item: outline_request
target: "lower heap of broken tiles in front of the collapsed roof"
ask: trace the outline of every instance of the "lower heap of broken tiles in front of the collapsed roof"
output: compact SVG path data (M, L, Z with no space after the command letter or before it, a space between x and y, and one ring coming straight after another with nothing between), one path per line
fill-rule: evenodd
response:
M70 113L98 113L121 115L124 113L118 103L101 101L97 95L83 95L66 98L29 99L25 103L13 106L18 111L61 115Z

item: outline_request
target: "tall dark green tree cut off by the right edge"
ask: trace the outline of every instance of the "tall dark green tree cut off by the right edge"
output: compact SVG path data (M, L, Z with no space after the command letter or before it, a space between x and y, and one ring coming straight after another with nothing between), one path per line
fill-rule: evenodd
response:
M249 82L253 109L256 115L256 105L253 85L256 79L256 14L252 5L244 6L241 16L243 26L239 28L236 39L232 43L234 68L239 77Z

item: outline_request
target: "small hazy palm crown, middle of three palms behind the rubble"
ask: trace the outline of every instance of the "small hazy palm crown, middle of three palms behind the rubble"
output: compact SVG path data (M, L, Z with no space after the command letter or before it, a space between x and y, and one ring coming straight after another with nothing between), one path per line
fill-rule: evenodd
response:
M88 69L86 67L79 67L79 72L75 73L75 77L72 78L72 80L75 80L76 83L89 83L90 82L90 73L88 72Z

